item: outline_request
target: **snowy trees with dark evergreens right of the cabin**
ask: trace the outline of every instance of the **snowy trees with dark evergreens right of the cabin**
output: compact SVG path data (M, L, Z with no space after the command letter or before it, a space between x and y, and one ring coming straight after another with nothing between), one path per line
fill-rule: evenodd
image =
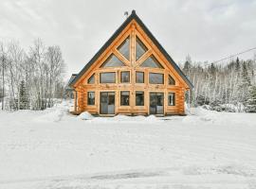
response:
M256 112L255 58L206 65L192 63L188 56L183 72L194 85L192 106L209 105L205 107L215 111Z

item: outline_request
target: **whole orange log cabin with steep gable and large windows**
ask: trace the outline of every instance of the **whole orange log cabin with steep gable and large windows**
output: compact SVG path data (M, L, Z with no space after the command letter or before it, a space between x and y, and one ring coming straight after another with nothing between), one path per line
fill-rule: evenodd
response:
M76 114L184 115L192 82L133 10L68 86Z

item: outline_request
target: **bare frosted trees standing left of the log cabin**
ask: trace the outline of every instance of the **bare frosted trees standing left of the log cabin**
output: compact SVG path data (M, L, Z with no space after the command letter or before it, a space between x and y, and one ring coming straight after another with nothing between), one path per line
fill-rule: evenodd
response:
M5 96L7 110L44 110L64 95L61 48L40 39L27 52L17 42L0 43L0 73L0 98Z

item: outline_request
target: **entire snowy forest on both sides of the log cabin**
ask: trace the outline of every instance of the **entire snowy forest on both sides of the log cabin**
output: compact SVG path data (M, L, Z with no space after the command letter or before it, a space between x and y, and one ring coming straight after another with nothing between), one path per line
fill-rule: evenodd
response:
M250 60L179 65L194 88L186 95L192 107L213 111L256 112L256 54ZM0 99L5 110L44 110L64 98L65 64L60 46L37 39L26 51L18 42L0 43ZM5 87L3 87L3 84Z

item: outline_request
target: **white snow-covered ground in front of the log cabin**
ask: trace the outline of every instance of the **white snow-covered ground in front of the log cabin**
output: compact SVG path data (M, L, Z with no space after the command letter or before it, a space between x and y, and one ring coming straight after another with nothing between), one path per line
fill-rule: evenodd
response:
M256 114L0 111L0 188L256 188Z

